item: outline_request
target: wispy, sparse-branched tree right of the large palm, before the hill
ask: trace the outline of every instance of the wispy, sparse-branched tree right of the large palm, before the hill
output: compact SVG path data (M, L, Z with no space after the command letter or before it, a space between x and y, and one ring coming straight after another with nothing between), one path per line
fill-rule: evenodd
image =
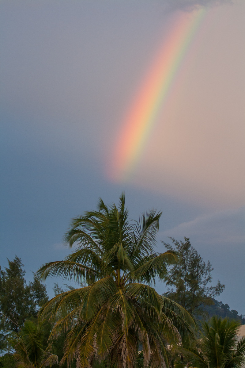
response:
M213 268L209 261L207 265L203 262L189 238L185 237L184 242L170 239L174 246L162 243L168 251L177 251L180 260L164 278L167 286L172 287L164 295L182 305L191 314L204 315L203 307L213 304L213 298L224 290L224 284L218 280L216 286L208 286L212 281Z

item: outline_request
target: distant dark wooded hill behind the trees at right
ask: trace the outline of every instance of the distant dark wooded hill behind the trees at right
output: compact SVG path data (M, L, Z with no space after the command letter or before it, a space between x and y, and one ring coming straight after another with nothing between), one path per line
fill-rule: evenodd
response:
M213 305L206 305L205 307L203 307L203 310L208 312L209 318L215 315L222 318L227 317L231 319L236 319L240 321L242 325L245 325L245 315L238 315L237 311L234 311L234 309L230 310L228 304L223 304L221 301L213 299L213 302Z

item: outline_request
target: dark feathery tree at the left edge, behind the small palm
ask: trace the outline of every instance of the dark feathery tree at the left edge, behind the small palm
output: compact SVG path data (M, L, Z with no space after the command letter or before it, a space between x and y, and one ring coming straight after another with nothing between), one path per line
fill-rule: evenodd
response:
M25 270L21 259L8 259L8 267L0 267L0 350L6 350L9 332L18 333L27 318L36 317L41 305L48 300L46 287L34 274L33 281L26 284Z

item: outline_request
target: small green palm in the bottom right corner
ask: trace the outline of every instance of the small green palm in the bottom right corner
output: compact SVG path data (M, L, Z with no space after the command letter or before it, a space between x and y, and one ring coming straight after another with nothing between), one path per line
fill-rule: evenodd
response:
M245 362L245 336L237 341L239 322L213 316L203 323L203 334L191 349L179 348L183 361L175 368L239 368Z

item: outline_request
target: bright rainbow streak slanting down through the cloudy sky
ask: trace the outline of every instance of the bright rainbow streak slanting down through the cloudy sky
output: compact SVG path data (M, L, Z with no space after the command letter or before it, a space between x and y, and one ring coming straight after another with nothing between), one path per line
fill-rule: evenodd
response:
M141 84L131 108L123 119L112 152L110 176L130 178L145 142L176 79L181 62L203 19L205 10L181 13Z

